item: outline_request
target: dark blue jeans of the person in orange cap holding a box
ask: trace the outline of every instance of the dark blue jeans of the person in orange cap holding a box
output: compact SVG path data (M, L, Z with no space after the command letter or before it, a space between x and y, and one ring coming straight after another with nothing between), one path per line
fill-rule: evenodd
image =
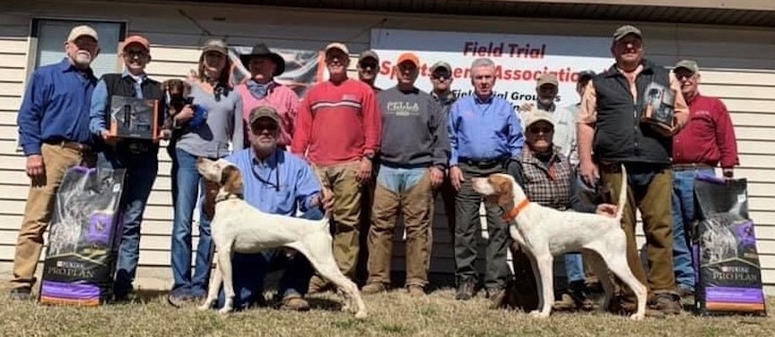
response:
M119 214L123 215L119 223L122 235L113 285L117 297L132 292L132 281L135 281L140 258L140 224L159 169L157 152L155 148L140 153L108 150L97 156L98 168L126 168L126 184L118 206Z

